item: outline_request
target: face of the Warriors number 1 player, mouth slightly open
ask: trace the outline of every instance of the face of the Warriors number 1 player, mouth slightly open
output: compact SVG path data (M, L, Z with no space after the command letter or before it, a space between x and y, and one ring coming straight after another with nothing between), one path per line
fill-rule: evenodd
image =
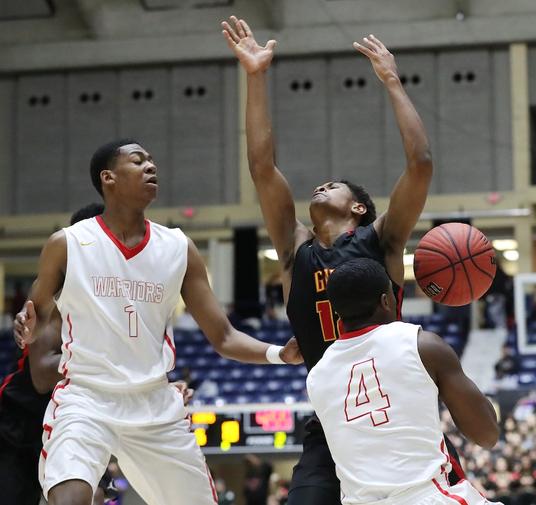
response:
M115 165L114 177L121 193L148 203L157 198L157 167L153 157L138 144L128 144L120 148Z

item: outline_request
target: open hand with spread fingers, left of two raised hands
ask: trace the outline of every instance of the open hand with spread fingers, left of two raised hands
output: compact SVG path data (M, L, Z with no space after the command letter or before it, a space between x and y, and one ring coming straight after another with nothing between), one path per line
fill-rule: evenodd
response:
M240 63L248 73L265 71L273 58L273 48L277 44L275 40L269 40L265 47L259 46L255 41L253 32L243 19L231 16L233 27L227 22L222 22L224 34L229 47L240 60Z

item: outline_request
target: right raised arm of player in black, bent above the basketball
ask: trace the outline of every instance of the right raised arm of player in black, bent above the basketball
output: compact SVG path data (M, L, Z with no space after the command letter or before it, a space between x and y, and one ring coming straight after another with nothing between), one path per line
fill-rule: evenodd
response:
M432 177L430 142L421 118L400 82L393 55L374 35L363 39L363 44L354 42L354 47L370 58L378 79L389 93L406 153L407 168L391 194L383 226L379 221L375 223L385 250L389 275L401 285L404 281L404 247L425 206Z

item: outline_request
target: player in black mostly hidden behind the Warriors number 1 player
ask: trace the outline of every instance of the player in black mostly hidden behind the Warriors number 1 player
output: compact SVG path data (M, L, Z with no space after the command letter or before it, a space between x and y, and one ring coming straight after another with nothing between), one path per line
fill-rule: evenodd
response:
M71 224L102 213L104 206L93 203L71 217ZM14 372L0 386L0 474L4 503L39 505L41 486L38 462L41 453L43 415L56 383L61 357L61 316L54 311L38 342L18 353ZM37 382L32 383L36 378ZM108 471L99 482L93 505L114 498L115 488Z

